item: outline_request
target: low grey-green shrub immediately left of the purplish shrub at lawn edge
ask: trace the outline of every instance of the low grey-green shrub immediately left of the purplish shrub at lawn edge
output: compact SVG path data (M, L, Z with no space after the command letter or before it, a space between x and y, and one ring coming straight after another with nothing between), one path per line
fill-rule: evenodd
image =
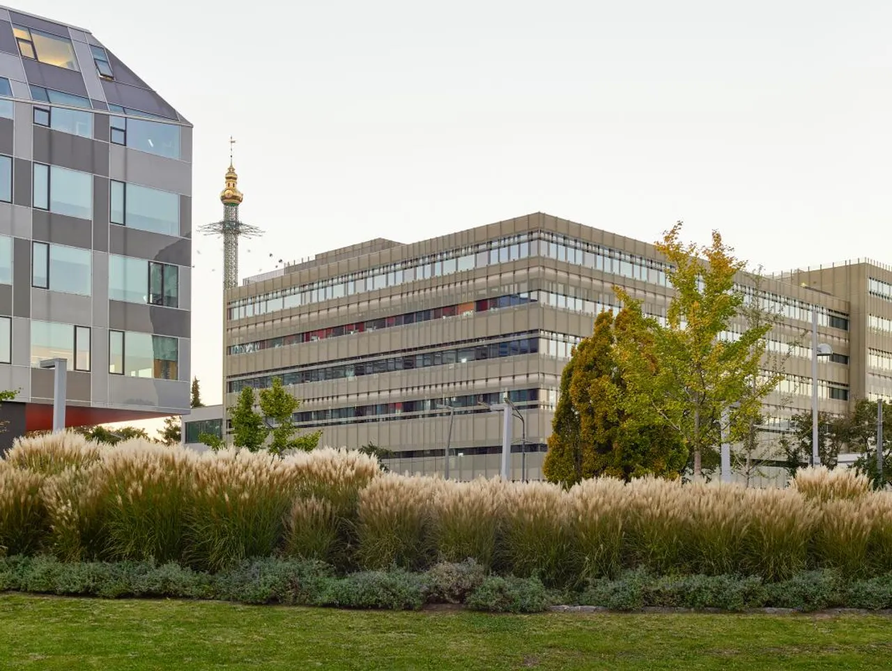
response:
M417 610L425 603L425 576L393 571L362 571L331 581L318 605L341 608Z

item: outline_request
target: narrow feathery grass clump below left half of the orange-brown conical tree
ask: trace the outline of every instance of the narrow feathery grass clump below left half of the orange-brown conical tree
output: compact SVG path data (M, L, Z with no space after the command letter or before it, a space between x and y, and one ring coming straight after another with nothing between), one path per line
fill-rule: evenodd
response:
M570 490L569 529L579 580L620 571L626 494L623 482L614 478L583 480Z

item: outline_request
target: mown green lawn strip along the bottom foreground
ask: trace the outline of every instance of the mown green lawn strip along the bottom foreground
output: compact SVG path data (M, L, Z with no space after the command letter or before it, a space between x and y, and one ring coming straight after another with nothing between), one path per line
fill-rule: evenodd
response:
M498 616L0 594L11 669L888 669L881 616Z

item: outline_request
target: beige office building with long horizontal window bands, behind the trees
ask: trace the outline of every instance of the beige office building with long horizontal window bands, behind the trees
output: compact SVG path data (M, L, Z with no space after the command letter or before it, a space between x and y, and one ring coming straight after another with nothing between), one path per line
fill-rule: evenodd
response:
M536 478L561 371L595 315L617 309L615 285L665 316L673 289L652 245L542 213L318 254L227 292L227 404L244 385L282 377L303 400L299 426L321 428L330 445L390 448L392 468L411 472L442 472L450 410L439 404L449 405L450 472L467 479L499 473L502 418L480 403L507 393L524 417L527 475ZM767 399L766 429L782 431L791 413L811 407L813 309L834 352L820 363L822 410L892 398L892 271L844 265L767 278L762 290L786 317L772 351L798 341L787 379ZM521 440L517 420L514 477Z

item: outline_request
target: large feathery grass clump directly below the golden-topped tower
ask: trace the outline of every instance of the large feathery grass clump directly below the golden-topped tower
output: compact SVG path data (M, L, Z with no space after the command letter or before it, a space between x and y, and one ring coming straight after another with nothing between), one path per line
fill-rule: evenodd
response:
M295 492L288 460L266 452L205 452L195 460L187 493L186 558L219 570L251 557L268 557L281 543Z

